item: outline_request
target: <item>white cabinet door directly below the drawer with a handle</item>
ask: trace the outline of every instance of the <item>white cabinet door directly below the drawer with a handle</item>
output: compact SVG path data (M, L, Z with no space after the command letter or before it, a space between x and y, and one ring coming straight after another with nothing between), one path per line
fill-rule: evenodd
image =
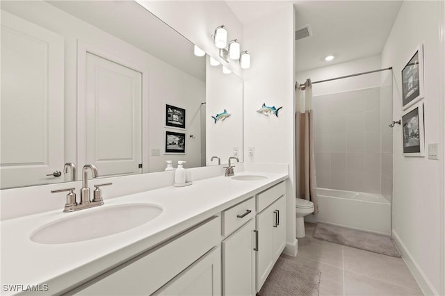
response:
M255 295L254 220L223 240L223 295Z

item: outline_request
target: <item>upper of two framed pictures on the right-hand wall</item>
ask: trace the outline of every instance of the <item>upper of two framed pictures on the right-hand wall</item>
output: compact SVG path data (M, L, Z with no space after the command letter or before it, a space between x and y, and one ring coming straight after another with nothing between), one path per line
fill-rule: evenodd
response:
M402 69L402 110L423 98L423 44L420 44Z

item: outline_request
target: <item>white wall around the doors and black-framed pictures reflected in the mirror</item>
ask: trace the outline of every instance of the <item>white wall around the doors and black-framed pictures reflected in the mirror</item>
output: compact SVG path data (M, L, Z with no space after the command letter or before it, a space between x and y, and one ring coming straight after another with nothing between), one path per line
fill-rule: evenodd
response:
M161 156L149 156L149 172L163 170L167 159L187 161L186 167L201 165L200 113L198 112L195 117L193 115L199 111L201 102L205 101L205 81L196 79L163 60L43 1L3 2L2 9L65 38L65 161L74 162L78 167L83 165L77 163L76 159L77 40L80 39L92 47L128 61L130 65L147 69L148 94L145 94L143 98L145 99L143 106L148 104L149 134L143 137L149 137L148 141L145 141L149 143L149 147L144 147L144 149L148 155L152 148L161 150ZM186 108L186 155L163 155L165 103ZM195 135L196 138L188 138L189 134Z

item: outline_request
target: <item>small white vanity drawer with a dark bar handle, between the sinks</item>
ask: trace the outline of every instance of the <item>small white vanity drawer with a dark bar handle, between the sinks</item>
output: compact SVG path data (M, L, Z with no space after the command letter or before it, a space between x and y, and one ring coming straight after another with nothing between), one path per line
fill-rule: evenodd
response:
M223 236L228 236L243 226L245 222L255 217L255 214L255 199L253 197L223 211Z

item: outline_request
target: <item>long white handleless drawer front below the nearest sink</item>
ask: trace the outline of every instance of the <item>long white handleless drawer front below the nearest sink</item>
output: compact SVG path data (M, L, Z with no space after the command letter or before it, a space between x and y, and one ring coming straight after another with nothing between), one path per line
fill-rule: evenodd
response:
M77 295L150 295L218 245L219 227L214 217L87 283Z

